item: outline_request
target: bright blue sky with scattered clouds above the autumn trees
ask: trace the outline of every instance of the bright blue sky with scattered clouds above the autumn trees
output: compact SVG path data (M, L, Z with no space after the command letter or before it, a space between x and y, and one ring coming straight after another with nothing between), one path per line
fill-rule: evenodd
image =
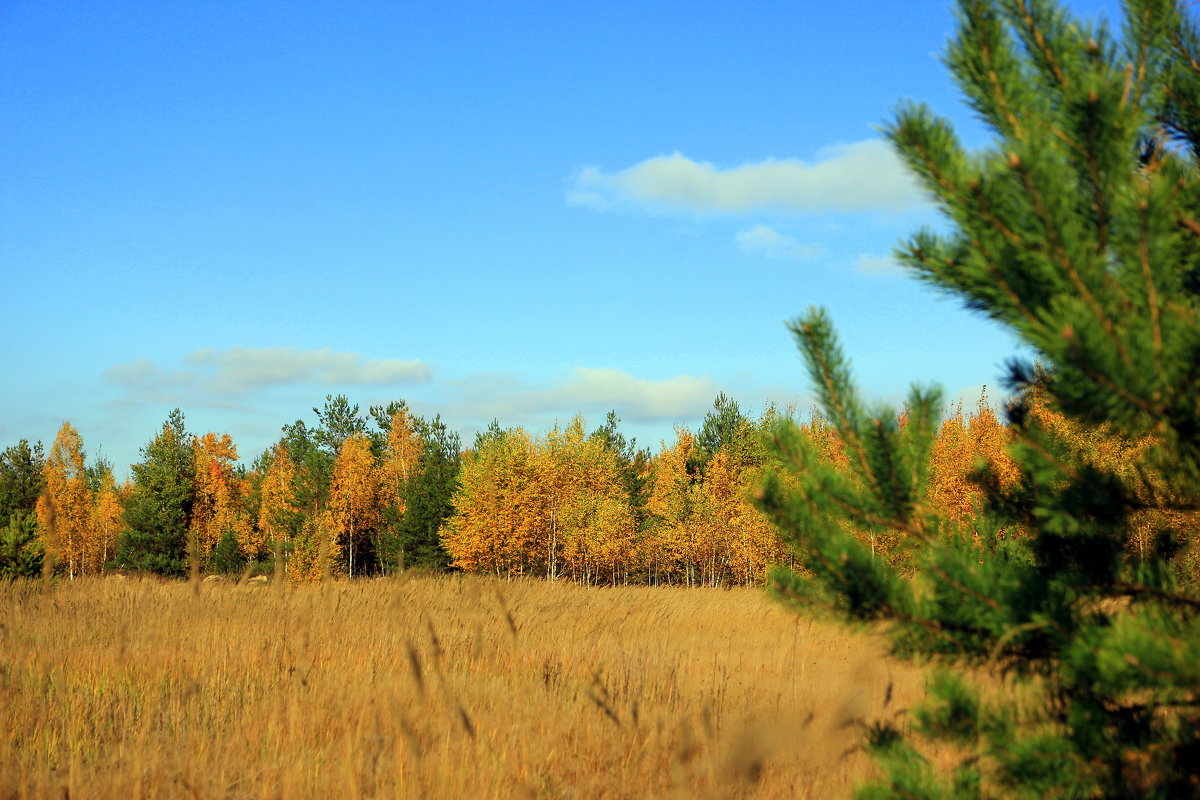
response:
M1075 4L1085 14L1111 2ZM942 2L56 2L0 10L0 446L118 471L167 413L247 463L326 393L469 441L718 391L809 404L827 306L864 391L977 396L1013 339L896 270L937 217L905 98L985 132Z

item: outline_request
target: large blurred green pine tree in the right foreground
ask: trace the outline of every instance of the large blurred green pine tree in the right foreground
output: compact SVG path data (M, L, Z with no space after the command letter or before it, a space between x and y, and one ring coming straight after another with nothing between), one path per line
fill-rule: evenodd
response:
M762 504L805 570L778 571L774 590L883 624L895 655L941 664L907 729L869 726L883 778L860 796L1200 796L1200 590L1183 558L1200 531L1178 522L1200 506L1196 22L1129 0L1117 40L1054 2L962 0L946 61L995 140L968 154L928 108L900 109L888 134L949 221L900 258L1045 365L1009 371L1019 479L980 465L986 512L971 527L935 513L940 395L914 389L902 427L868 409L810 311L791 327L850 469L775 427L782 467ZM1148 444L1118 475L1034 402ZM1132 557L1147 509L1164 513ZM856 529L901 537L914 575ZM1013 694L983 697L967 668L1003 673ZM935 769L924 740L961 758Z

